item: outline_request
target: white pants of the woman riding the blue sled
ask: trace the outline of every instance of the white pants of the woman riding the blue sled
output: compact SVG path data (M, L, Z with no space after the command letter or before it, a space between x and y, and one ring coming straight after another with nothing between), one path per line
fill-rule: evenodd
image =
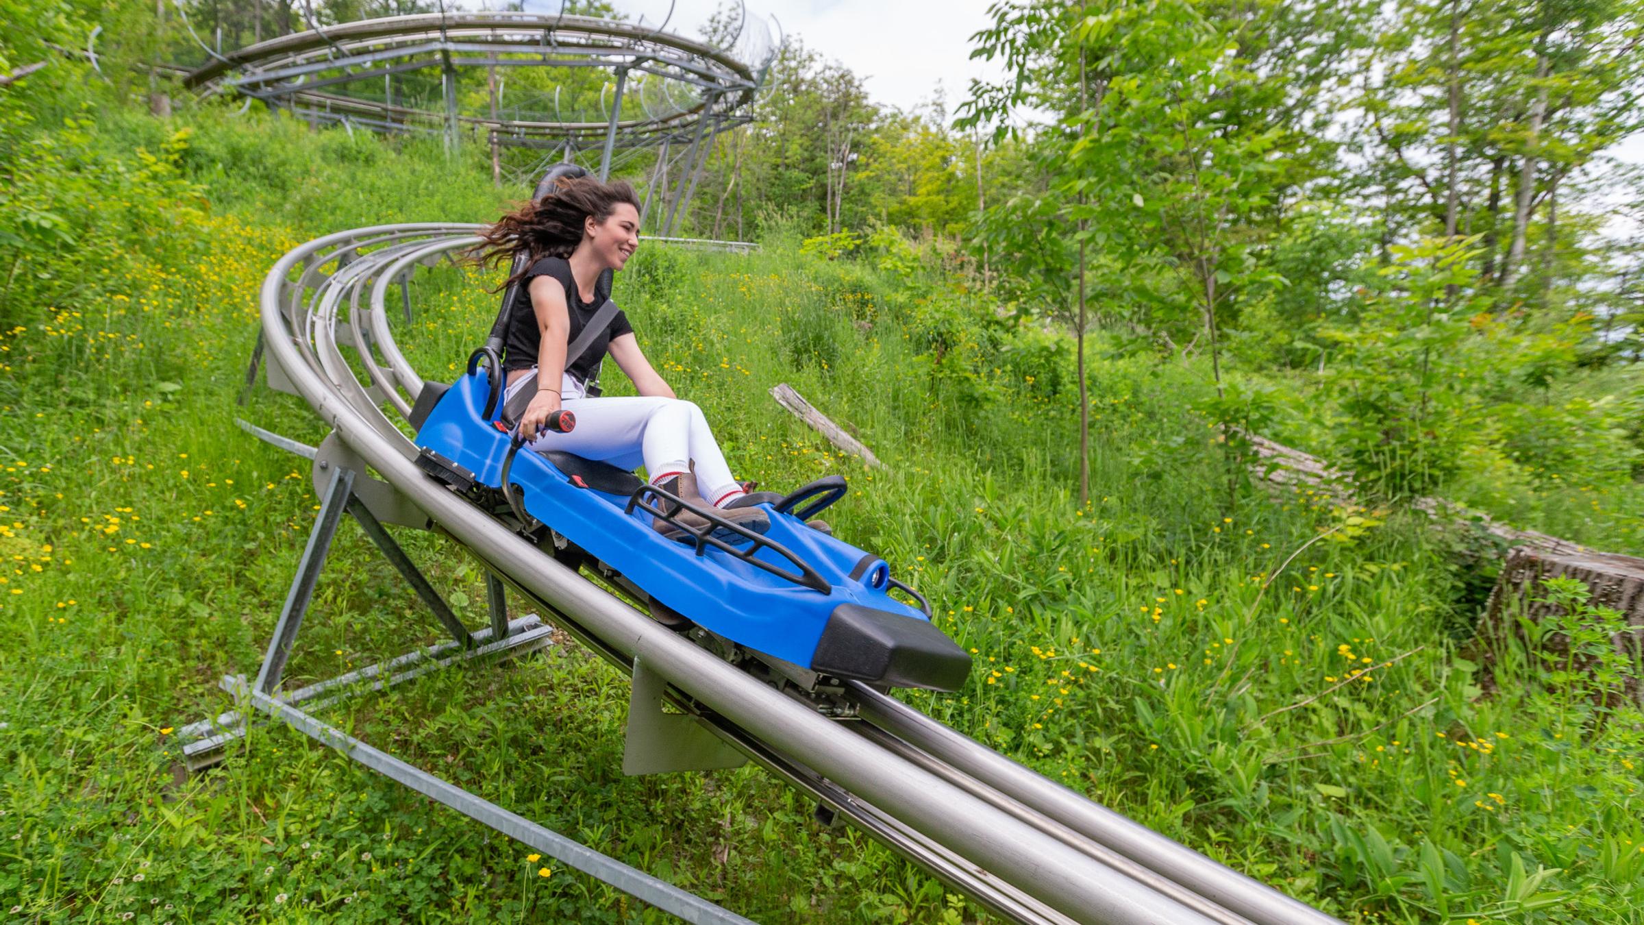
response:
M503 403L533 379L523 375L510 383ZM531 449L561 449L626 471L643 462L651 479L686 472L695 461L697 490L709 504L740 490L709 420L695 403L649 395L582 398L582 390L569 375L562 392L559 407L577 416L577 426L570 433L544 430L531 441Z

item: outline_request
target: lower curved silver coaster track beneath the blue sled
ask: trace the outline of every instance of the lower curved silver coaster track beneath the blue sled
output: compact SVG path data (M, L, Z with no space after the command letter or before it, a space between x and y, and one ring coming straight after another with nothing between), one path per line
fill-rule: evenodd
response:
M778 779L1016 922L1337 922L983 747L865 685L824 716L672 632L419 471L404 418L423 379L395 346L390 290L469 247L477 225L345 230L286 253L261 288L275 388L302 397L398 522L447 535L574 639L633 673ZM409 301L406 301L409 313ZM408 314L409 316L409 314ZM344 351L353 354L353 365ZM362 380L353 369L363 370Z

